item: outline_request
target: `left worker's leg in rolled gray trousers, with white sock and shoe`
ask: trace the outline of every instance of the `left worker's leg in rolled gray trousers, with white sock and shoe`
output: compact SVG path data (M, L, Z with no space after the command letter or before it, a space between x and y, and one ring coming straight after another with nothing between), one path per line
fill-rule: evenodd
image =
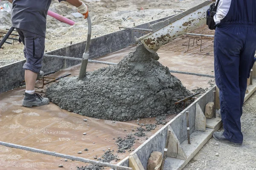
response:
M41 78L44 72L41 71L42 59L44 56L45 37L16 28L20 40L25 45L24 57L26 62L23 65L25 69L26 91L22 100L22 105L26 107L42 106L49 104L49 99L41 97L35 93L35 81Z

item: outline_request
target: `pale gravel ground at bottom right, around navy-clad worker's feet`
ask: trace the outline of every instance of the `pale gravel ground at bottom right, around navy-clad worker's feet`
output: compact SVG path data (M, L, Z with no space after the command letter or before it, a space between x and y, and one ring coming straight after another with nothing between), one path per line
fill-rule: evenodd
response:
M256 94L244 104L244 143L233 147L210 139L183 170L256 170ZM223 131L223 128L220 129ZM218 154L217 154L218 153Z

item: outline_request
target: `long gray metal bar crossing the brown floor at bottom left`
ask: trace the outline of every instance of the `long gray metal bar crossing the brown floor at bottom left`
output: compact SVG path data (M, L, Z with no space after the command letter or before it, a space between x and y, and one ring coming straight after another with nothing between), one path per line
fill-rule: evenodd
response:
M132 168L130 168L130 167L124 167L124 166L119 166L119 165L115 165L115 164L94 161L94 160L85 159L85 158L81 158L81 157L77 157L77 156L71 156L71 155L65 155L65 154L61 154L61 153L51 152L48 150L41 150L41 149L37 149L37 148L33 148L33 147L26 147L26 146L22 146L22 145L18 145L18 144L12 144L12 143L0 141L0 145L6 146L6 147L17 148L17 149L21 149L21 150L28 150L30 152L35 152L35 153L42 153L42 154L50 155L50 156L58 156L58 157L64 158L64 159L81 161L81 162L95 164L95 165L102 166L102 167L111 167L116 170L132 170Z

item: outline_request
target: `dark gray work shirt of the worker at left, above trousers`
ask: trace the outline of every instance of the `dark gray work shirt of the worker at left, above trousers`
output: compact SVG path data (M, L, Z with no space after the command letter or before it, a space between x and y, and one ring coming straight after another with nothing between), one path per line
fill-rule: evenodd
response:
M12 26L45 37L46 17L51 2L52 0L13 0Z

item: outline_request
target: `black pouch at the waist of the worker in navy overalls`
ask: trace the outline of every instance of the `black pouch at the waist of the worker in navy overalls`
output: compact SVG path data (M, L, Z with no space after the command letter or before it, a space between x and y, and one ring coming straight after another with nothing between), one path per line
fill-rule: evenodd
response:
M210 8L206 12L206 24L211 30L215 30L216 24L213 19L214 15L216 14L217 8L218 8L218 3L220 0L217 1L217 3L212 3Z

